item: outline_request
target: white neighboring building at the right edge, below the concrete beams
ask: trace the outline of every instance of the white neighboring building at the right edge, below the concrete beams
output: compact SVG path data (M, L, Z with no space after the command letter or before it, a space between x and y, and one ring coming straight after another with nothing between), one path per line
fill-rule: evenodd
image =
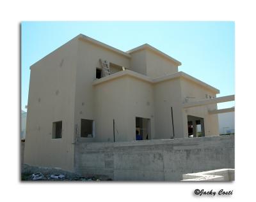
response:
M235 133L235 112L219 113L220 134Z

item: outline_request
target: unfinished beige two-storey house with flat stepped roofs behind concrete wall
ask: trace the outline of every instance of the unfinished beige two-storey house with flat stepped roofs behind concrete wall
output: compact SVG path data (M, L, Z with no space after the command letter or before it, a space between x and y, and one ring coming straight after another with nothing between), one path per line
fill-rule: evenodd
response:
M141 45L79 34L31 66L24 162L74 171L74 145L219 135L220 91Z

